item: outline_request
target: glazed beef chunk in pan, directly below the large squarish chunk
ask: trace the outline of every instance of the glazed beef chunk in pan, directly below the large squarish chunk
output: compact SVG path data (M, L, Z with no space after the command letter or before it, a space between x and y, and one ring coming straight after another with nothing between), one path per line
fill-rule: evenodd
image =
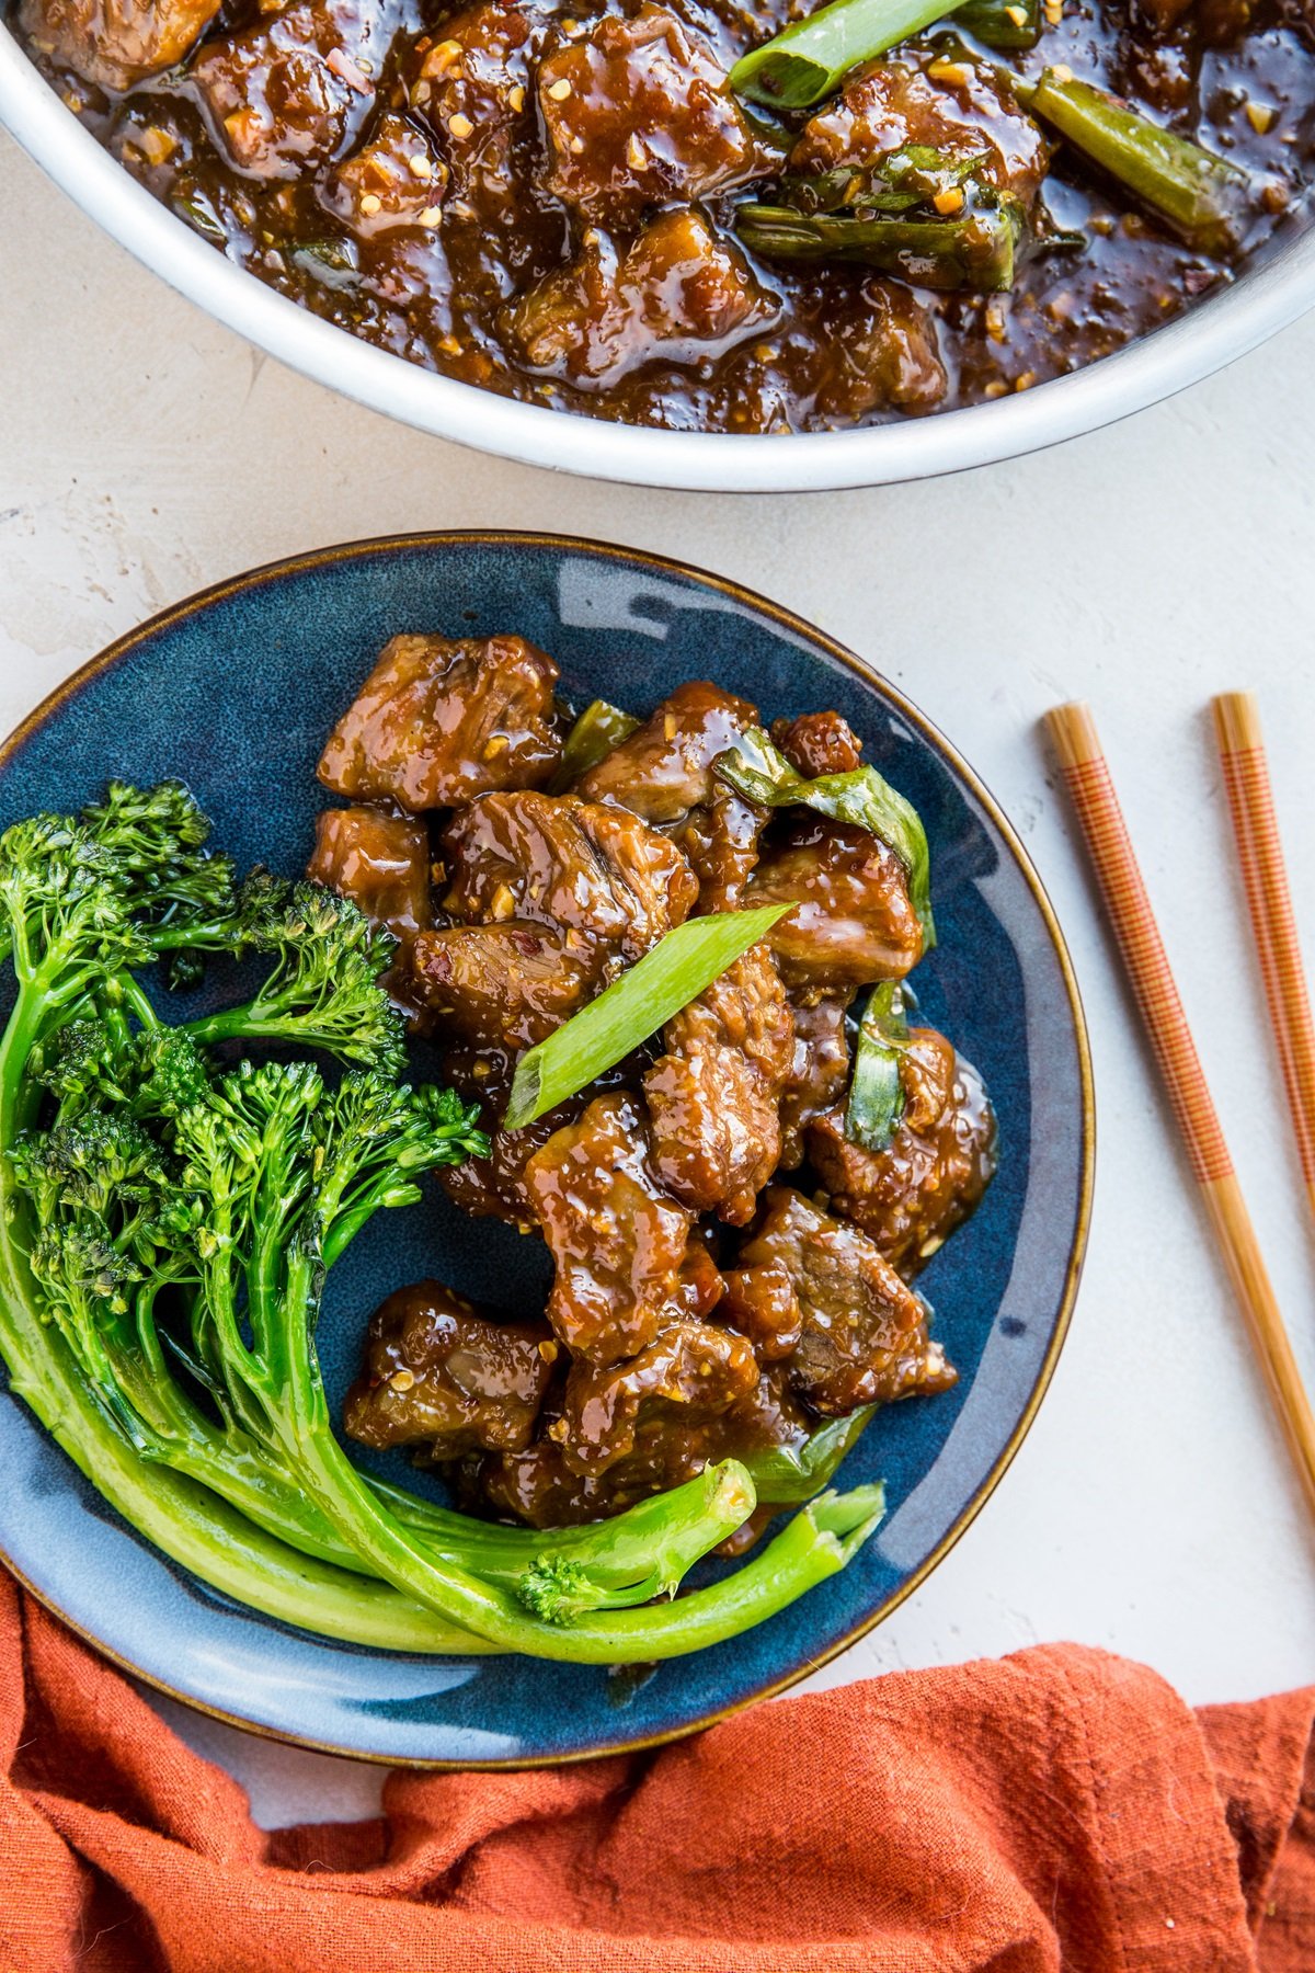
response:
M576 260L509 312L532 369L607 389L660 357L698 363L767 329L781 304L702 213L662 213L625 253L589 229Z

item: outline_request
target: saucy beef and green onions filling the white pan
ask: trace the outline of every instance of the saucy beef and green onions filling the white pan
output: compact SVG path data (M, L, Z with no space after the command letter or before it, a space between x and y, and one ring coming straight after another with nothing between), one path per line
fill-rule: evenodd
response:
M1311 0L18 20L260 280L450 377L676 430L881 422L1078 369L1230 280L1315 146Z

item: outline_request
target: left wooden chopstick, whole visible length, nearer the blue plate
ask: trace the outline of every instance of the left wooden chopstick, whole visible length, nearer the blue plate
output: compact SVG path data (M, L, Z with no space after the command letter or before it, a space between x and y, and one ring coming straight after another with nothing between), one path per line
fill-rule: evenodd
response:
M1315 1513L1315 1415L1232 1170L1090 706L1057 706L1049 714L1049 726L1214 1239L1266 1373L1307 1507Z

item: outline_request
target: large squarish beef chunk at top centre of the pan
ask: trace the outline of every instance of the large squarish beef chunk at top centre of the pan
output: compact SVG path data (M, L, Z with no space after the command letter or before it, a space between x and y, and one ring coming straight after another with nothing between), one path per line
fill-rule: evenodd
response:
M552 189L601 225L771 170L702 36L658 6L607 16L538 67Z

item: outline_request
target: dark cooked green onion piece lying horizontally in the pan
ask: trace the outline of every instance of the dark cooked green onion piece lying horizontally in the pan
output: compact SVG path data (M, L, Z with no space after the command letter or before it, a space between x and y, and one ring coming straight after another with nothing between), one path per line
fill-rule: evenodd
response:
M1013 286L1017 219L1004 203L968 219L848 219L741 205L735 231L767 260L862 260L915 288L1002 294Z

